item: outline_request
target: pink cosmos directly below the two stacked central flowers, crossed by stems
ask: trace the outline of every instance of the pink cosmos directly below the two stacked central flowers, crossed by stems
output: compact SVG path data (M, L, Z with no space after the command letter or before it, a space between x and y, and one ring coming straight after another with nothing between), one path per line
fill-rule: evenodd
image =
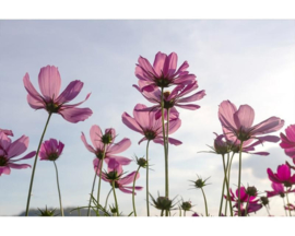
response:
M144 135L139 141L139 144L145 140L153 140L155 143L163 144L163 129L161 119L155 118L155 111L139 111L139 109L146 108L143 104L138 104L133 109L132 118L129 114L122 114L122 122L135 132ZM169 120L169 134L174 133L181 126L181 120L179 118ZM167 130L167 128L165 128ZM180 141L168 138L170 144L179 145Z

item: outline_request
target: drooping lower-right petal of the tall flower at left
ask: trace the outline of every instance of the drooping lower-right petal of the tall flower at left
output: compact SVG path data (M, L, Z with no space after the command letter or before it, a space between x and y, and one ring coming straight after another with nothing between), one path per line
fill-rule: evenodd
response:
M62 107L64 107L63 105ZM92 115L92 110L90 108L68 108L60 109L58 111L63 119L68 120L69 122L76 123L79 121L84 121Z

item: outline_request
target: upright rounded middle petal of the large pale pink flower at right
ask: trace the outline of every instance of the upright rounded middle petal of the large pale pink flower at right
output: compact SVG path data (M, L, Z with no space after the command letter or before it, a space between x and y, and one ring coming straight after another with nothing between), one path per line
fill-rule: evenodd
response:
M238 110L234 114L234 120L237 129L243 127L245 129L251 128L253 123L255 111L252 107L248 105L239 106Z

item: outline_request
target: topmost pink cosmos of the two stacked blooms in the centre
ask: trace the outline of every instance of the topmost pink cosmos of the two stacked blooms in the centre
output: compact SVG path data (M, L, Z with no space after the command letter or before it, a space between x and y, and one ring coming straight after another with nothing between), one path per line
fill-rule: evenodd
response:
M177 84L190 84L196 79L194 74L189 74L187 71L189 67L187 61L176 70L177 54L175 52L167 56L158 51L155 56L153 67L143 57L140 57L138 61L135 75L138 79L148 83L146 86L142 87L145 91L151 91L154 86L168 87Z

